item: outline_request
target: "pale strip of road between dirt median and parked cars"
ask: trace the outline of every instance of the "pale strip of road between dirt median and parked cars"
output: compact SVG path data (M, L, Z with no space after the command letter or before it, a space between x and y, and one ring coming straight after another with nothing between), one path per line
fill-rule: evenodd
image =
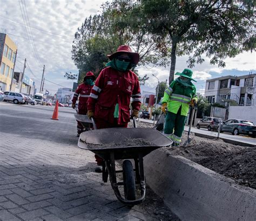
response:
M148 119L139 119L141 122L146 122L146 123L156 123L153 122L153 120L148 120ZM188 126L185 126L185 131L188 131ZM194 133L201 133L201 134L206 134L206 135L210 135L210 136L214 136L217 137L218 133L215 131L208 131L207 129L197 129L196 127L192 127L191 132ZM220 138L226 138L226 139L230 139L230 140L235 140L235 141L239 141L239 142L244 142L247 144L252 144L252 145L256 145L256 138L251 138L248 136L243 136L243 135L232 135L231 133L220 133Z

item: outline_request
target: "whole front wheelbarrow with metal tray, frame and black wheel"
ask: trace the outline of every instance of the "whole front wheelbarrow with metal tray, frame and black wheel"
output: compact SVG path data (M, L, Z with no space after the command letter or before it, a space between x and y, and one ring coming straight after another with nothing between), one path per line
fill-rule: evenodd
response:
M92 120L92 122L94 122ZM134 127L136 119L133 118ZM94 128L96 128L94 126ZM137 142L133 141L136 140ZM131 141L129 143L129 141ZM138 142L139 141L139 142ZM141 141L141 143L140 143ZM125 205L142 203L146 195L146 181L144 176L143 157L150 152L170 146L172 140L154 129L142 128L108 128L85 131L80 134L78 146L88 149L103 158L102 180L107 182L109 177L114 194ZM134 167L131 159L134 160ZM116 160L123 161L123 169L116 170ZM123 182L117 182L117 173L123 174ZM140 194L136 196L136 184L140 187ZM119 188L123 186L124 196Z

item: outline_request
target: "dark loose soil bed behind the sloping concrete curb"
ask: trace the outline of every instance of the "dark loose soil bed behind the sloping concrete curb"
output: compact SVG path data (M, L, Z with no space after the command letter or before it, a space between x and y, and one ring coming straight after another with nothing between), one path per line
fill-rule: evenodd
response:
M140 123L138 127L152 128L152 124ZM191 134L191 142L184 132L179 147L168 147L172 155L184 156L198 164L225 175L235 183L256 189L256 147L245 147L228 144L221 139L212 140Z

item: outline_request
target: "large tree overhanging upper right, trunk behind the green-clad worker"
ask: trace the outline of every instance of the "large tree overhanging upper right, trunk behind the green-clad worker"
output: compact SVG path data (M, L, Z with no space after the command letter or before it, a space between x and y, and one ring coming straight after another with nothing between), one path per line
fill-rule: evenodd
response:
M224 59L255 49L253 0L142 0L142 13L152 34L171 42L169 82L176 55L190 55L188 67L202 63L225 67Z

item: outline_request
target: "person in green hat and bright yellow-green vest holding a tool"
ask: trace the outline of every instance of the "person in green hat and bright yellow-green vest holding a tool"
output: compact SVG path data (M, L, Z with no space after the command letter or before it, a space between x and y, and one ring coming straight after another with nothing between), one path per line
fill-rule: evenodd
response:
M197 91L191 81L192 70L184 69L182 73L176 73L179 77L171 82L164 92L162 111L167 113L165 117L164 134L173 141L173 146L178 146L184 131L185 120L190 105L197 103ZM173 132L174 129L174 132Z

